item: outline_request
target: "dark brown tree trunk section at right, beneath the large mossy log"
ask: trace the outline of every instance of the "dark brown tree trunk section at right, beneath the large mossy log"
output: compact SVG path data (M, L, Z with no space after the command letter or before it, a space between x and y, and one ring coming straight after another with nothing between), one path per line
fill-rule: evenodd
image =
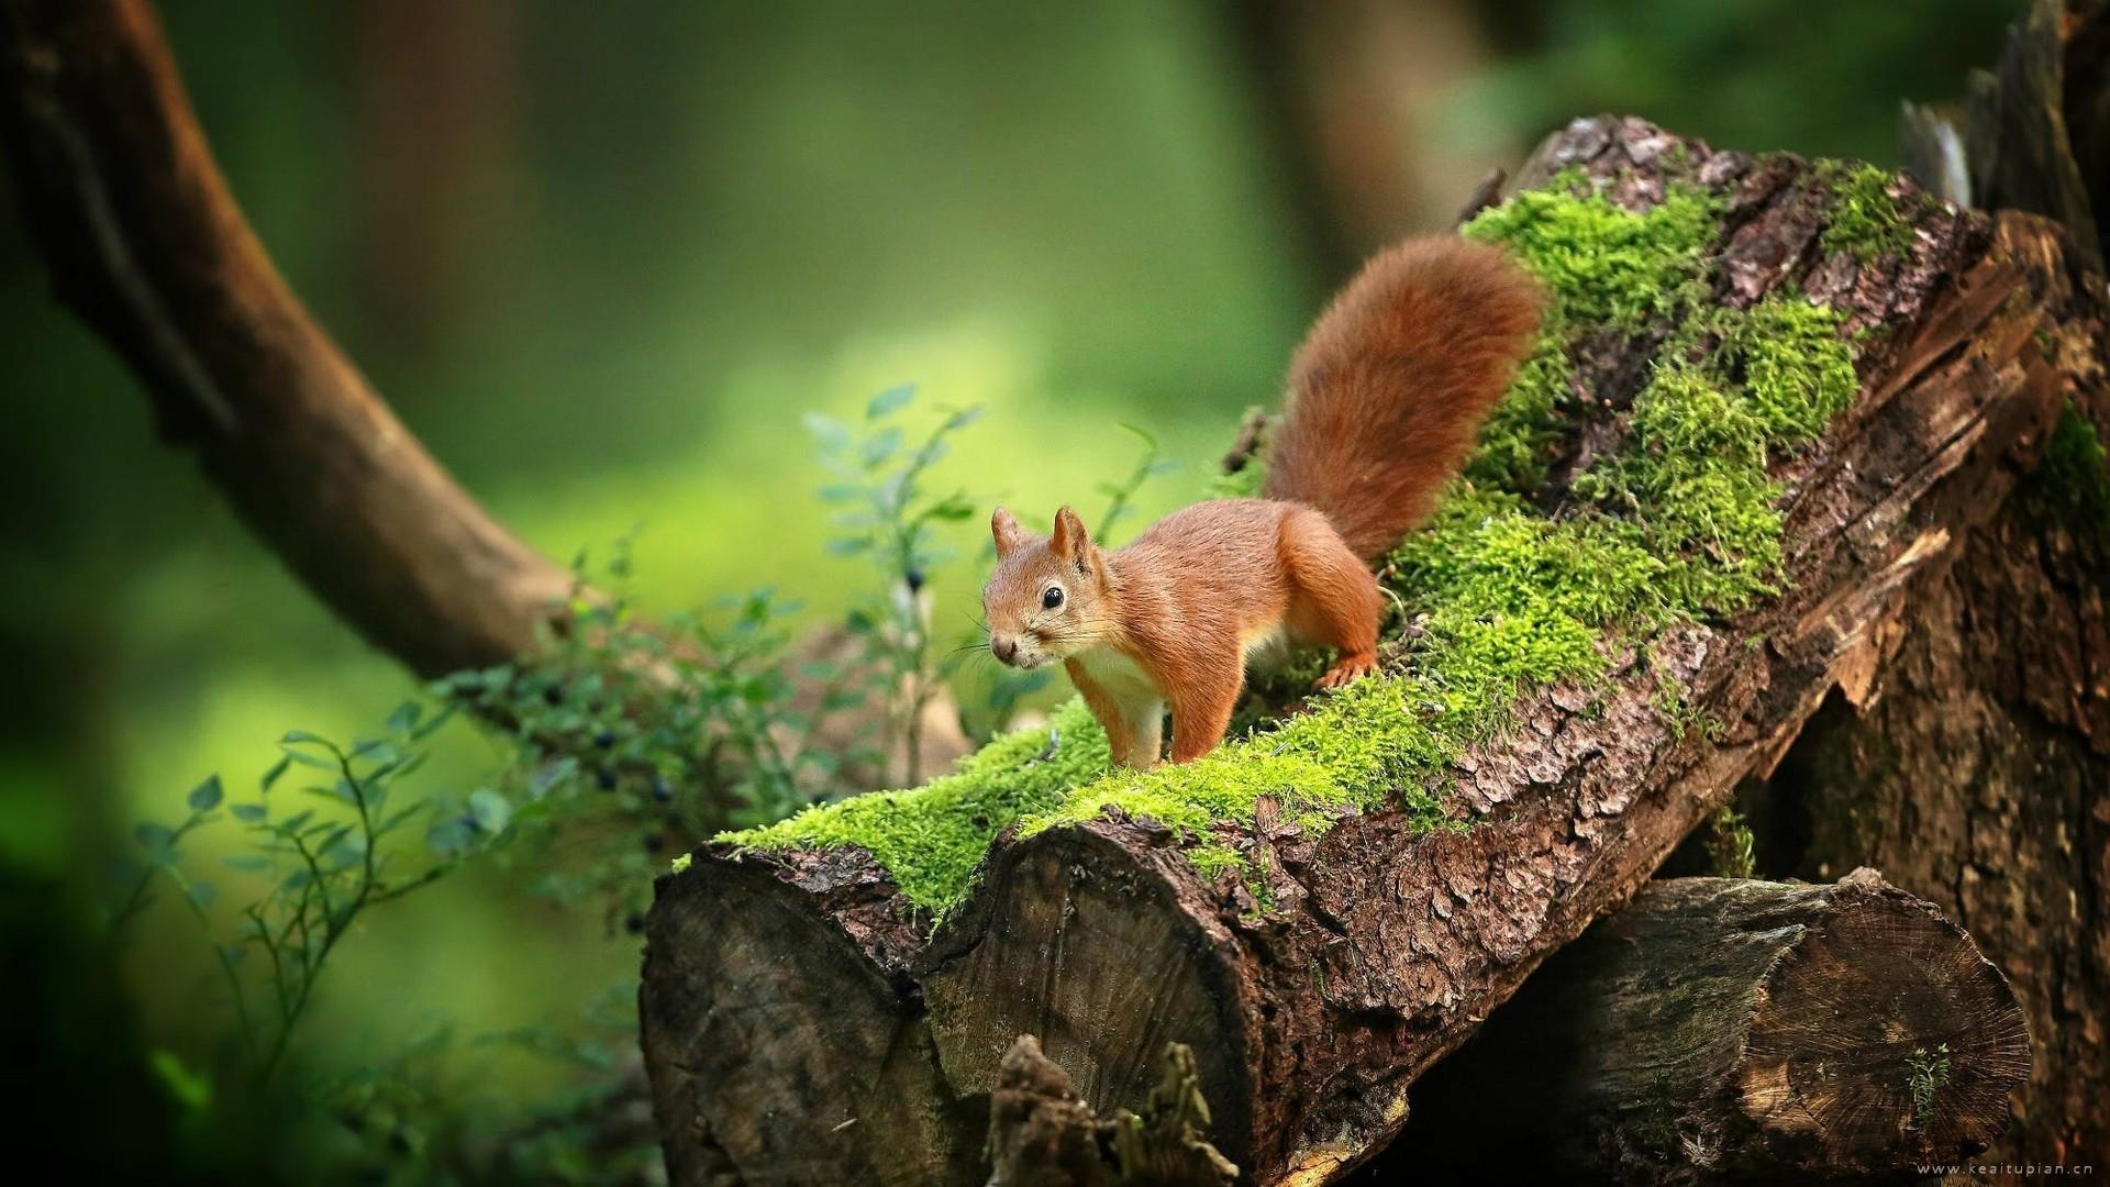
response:
M2099 374L2076 408L2110 439ZM2083 494L2038 473L1969 530L1880 678L1745 792L1775 868L1880 864L2013 976L2038 1058L2004 1162L2110 1151L2110 503Z

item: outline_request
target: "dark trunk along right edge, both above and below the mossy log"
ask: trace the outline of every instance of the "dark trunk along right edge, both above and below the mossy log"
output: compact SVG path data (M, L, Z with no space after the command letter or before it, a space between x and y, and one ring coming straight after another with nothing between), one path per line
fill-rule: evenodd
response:
M2110 203L2110 4L2036 0L1998 76L1973 80L1958 161L1986 207L2099 243ZM1912 137L1907 137L1912 142ZM1922 135L1918 142L1926 144ZM2036 300L2106 319L2102 275L2047 272ZM2015 978L2038 1058L1994 1147L2009 1164L2110 1151L2110 439L2099 344L2051 344L2070 376L2064 458L1971 528L1884 661L1842 689L1770 784L1768 870L1874 864L1969 927Z

